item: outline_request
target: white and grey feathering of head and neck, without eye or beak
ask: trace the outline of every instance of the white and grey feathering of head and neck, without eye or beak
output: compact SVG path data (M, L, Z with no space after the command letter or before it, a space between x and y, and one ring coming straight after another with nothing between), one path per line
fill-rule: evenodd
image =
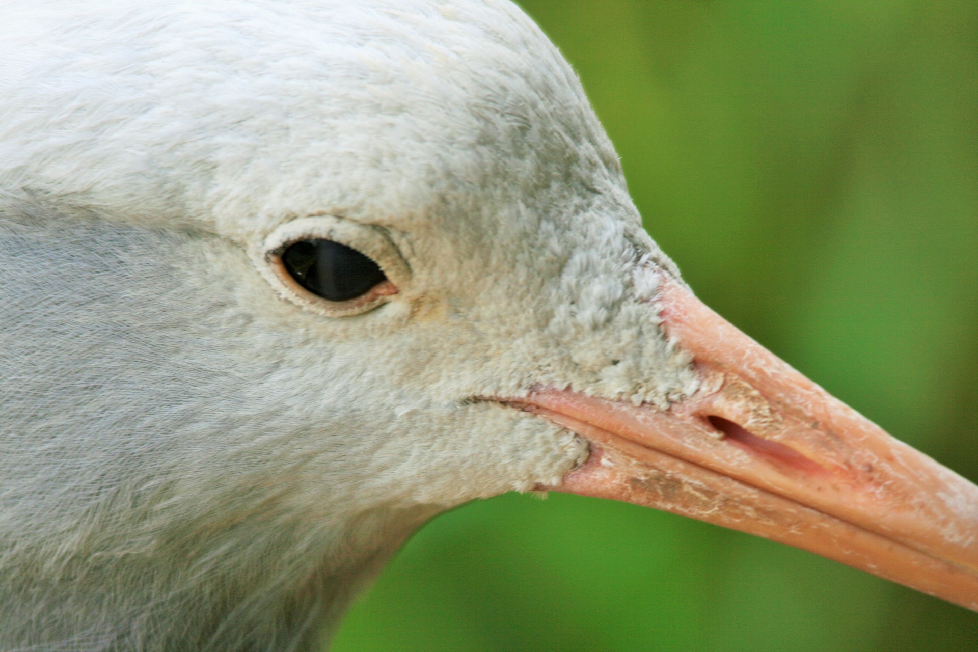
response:
M5 14L0 650L310 649L426 519L587 456L479 397L694 389L671 263L509 2ZM268 283L316 216L389 239L398 294Z

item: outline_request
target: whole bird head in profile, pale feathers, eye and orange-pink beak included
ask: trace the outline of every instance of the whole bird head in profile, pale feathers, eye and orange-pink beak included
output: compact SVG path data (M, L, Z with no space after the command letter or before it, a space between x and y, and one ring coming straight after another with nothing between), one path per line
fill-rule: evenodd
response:
M10 586L82 568L92 604L204 594L220 630L326 609L439 511L556 489L978 606L978 489L698 302L509 2L13 16Z

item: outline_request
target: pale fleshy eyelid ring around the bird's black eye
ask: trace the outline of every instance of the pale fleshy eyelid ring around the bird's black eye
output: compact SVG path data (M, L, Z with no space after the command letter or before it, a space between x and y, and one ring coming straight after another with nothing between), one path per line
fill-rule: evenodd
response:
M346 255L347 263L356 261L363 269L376 266L374 279L377 283L356 295L342 294L344 285L348 285L342 280L339 281L339 294L317 291L330 288L321 283L303 283L301 275L296 275L296 266L289 265L285 259L290 248L303 243ZM280 226L254 251L253 258L262 276L284 298L327 317L348 317L371 311L398 294L411 279L410 268L384 230L334 215L297 218ZM345 289L356 288L346 286Z

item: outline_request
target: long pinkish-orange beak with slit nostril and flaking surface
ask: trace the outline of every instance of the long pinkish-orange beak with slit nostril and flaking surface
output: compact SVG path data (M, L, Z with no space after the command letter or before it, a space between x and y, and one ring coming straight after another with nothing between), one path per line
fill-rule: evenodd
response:
M978 487L890 437L662 277L701 383L667 409L541 389L516 403L591 444L557 487L816 552L978 610Z

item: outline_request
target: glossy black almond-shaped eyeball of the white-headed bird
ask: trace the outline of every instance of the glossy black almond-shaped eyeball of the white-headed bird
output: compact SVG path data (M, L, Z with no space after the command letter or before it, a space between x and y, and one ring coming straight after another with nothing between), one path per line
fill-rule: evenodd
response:
M295 242L282 262L297 283L330 301L355 299L386 279L373 260L328 239Z

